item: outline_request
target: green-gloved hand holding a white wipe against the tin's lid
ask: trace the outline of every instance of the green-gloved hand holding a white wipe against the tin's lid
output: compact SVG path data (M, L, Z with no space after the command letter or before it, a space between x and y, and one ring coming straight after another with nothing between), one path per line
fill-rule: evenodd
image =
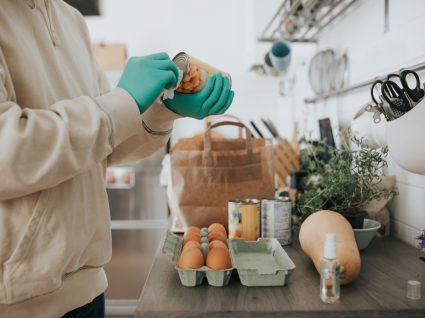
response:
M157 53L128 60L118 87L126 90L143 113L167 88L177 85L179 71L166 53Z

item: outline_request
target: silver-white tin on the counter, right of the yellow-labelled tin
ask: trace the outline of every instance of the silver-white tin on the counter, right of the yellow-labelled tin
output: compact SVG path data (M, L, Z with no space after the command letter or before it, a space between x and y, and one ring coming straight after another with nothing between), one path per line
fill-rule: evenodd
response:
M289 198L261 200L261 235L274 237L281 245L292 242L292 202Z

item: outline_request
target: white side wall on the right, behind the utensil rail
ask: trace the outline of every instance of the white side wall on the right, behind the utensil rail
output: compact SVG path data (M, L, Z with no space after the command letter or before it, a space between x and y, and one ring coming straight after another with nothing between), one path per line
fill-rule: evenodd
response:
M348 53L352 84L425 61L425 1L411 0L408 6L405 0L389 2L388 33L384 33L384 0L363 0L326 29L319 40L319 49ZM420 75L424 80L425 74ZM316 105L304 105L303 112L313 114L314 124L318 118L329 116L340 127L347 127L360 106L370 101L369 90L366 87ZM305 120L303 112L297 114L300 121ZM425 176L404 171L391 158L388 172L397 176L400 191L391 204L393 234L413 245L419 231L425 229Z

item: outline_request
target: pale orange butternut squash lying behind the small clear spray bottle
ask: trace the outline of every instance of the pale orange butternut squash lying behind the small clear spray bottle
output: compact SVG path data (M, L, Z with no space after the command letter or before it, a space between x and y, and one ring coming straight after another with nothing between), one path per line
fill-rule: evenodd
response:
M339 213L319 211L310 215L301 225L300 244L320 273L326 233L335 233L338 260L341 265L340 283L348 284L360 273L361 259L353 229Z

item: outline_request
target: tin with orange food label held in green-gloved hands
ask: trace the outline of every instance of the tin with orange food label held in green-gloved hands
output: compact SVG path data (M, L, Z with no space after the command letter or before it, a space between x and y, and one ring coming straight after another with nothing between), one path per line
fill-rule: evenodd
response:
M230 81L230 85L232 84L229 73L210 66L185 52L177 54L173 58L173 62L183 71L183 79L176 89L179 93L199 92L208 78L217 73L221 73L223 76L227 77Z

